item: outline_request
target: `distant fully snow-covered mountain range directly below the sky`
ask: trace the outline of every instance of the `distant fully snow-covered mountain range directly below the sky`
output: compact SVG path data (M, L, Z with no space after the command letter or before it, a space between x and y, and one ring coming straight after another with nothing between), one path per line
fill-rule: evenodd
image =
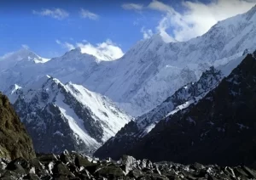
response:
M163 41L159 34L137 42L125 55L106 61L73 49L45 63L27 57L2 71L0 89L26 86L49 75L111 98L133 116L143 115L172 96L179 87L199 80L210 66L227 64L256 45L256 7L218 22L188 42ZM28 62L29 61L29 62Z

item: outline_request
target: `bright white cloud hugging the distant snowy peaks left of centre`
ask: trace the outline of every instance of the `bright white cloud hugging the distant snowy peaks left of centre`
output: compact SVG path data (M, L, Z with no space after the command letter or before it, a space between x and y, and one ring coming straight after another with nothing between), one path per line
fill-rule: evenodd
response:
M81 48L82 53L88 53L100 60L109 61L119 59L124 55L122 49L109 39L105 42L97 43L96 45L92 45L86 40L77 42L75 45L68 42L61 42L60 40L55 40L55 42L60 44L62 48L67 48L67 50Z

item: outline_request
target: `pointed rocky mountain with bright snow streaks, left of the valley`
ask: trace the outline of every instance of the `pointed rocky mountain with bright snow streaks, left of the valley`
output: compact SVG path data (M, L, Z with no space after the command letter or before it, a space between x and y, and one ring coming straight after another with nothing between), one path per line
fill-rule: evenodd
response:
M108 98L50 76L14 86L9 97L38 153L91 154L130 121Z

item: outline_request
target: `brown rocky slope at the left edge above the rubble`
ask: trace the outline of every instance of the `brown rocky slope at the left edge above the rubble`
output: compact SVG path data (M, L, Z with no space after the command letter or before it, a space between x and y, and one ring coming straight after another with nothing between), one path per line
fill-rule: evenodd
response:
M35 157L32 139L7 96L0 93L0 158L31 159Z

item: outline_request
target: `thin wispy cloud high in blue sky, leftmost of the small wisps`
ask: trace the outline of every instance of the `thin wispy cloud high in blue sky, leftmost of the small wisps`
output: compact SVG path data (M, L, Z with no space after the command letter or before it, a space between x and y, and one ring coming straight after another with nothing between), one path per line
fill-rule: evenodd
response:
M32 14L38 14L38 15L42 15L42 16L49 16L49 17L55 18L57 20L62 20L62 19L65 19L69 16L67 11L65 11L61 8L53 8L53 9L43 8L41 11L33 10Z

